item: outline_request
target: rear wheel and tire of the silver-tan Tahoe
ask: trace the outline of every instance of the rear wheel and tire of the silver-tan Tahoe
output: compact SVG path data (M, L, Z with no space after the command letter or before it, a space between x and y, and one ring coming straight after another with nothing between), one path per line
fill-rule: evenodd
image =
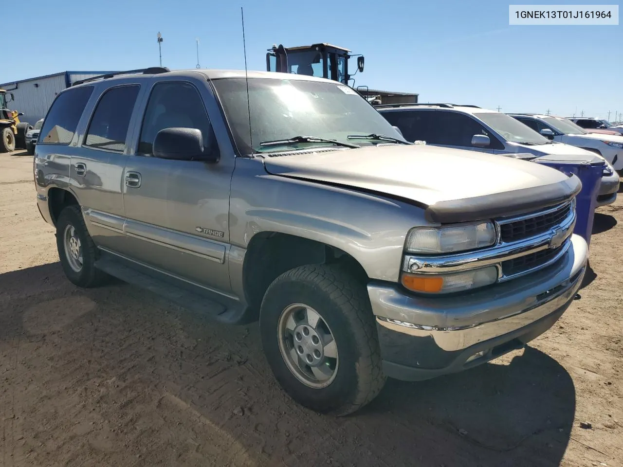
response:
M101 285L107 276L95 268L97 247L77 205L65 207L56 222L56 247L65 276L78 287Z

